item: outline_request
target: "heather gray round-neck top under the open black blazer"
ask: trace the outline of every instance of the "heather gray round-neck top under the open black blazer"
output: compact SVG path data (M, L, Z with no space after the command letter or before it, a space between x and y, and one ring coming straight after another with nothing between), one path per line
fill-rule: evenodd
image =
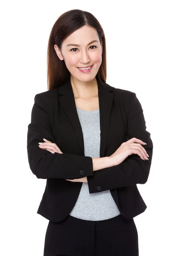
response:
M100 112L76 108L84 137L84 153L100 157ZM94 175L94 174L93 174ZM82 183L79 197L70 215L90 221L101 221L121 214L110 190L89 193L88 183Z

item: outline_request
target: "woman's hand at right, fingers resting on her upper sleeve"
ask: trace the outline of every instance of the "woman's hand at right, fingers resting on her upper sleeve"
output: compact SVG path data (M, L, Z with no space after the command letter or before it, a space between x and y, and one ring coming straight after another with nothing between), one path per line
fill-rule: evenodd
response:
M122 163L131 154L138 154L142 160L148 160L146 150L142 145L146 143L137 138L132 138L122 143L120 147L110 156L115 165Z

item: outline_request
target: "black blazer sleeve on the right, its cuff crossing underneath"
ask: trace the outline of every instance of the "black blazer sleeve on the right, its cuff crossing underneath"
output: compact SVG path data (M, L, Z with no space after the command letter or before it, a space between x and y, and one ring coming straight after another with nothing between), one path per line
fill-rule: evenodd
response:
M138 183L146 183L153 151L153 143L150 135L146 131L146 122L141 104L136 94L132 93L127 117L126 141L135 137L147 143L147 145L141 145L146 149L147 154L149 154L149 160L142 160L138 154L132 154L116 166L94 172L93 176L87 177L89 192L96 193ZM101 186L101 190L98 191L97 186Z

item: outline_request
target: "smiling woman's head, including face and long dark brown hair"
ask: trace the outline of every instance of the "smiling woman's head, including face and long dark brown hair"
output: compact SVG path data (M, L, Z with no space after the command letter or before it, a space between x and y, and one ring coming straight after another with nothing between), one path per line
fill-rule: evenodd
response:
M79 69L90 66L89 71ZM100 23L89 12L65 12L54 23L48 41L48 90L67 79L73 87L79 81L91 87L96 78L106 82L106 77L106 45Z

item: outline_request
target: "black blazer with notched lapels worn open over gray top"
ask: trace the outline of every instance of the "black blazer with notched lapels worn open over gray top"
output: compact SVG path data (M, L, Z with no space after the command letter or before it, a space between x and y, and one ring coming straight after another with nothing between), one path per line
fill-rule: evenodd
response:
M100 157L113 154L121 143L136 137L149 154L128 156L121 164L93 172L92 158L84 156L84 140L70 79L53 90L34 97L31 123L28 125L27 151L31 171L46 179L38 214L50 221L62 221L78 198L82 183L65 179L87 177L90 193L110 189L121 215L134 218L144 212L146 204L136 184L146 183L152 162L153 144L146 131L143 109L136 94L98 83L100 109ZM63 154L39 148L43 138L56 143Z

